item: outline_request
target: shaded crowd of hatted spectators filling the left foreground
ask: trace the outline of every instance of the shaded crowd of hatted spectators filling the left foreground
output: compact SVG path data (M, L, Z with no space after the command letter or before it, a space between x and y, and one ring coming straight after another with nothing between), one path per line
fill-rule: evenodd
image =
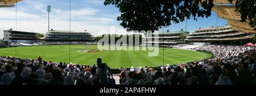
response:
M0 56L0 68L0 85L107 85L111 72L106 64L53 63L40 56L36 60Z

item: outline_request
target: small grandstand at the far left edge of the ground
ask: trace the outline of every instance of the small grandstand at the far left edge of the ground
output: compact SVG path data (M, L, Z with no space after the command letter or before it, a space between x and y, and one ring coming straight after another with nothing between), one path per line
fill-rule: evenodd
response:
M3 30L3 41L8 43L34 43L38 41L36 34L27 30Z

